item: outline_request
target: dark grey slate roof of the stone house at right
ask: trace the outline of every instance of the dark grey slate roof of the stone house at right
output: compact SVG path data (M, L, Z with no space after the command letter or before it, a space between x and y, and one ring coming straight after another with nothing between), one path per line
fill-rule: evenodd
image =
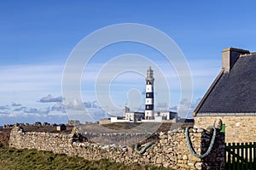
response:
M229 72L221 71L194 116L256 113L256 54L241 55Z

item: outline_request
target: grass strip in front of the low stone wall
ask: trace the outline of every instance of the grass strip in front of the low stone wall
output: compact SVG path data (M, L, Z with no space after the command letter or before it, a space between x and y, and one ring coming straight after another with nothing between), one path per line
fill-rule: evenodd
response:
M5 143L0 146L0 169L166 169L162 167L152 167L132 164L125 166L122 163L110 162L108 160L86 161L84 158L66 156L64 154L54 154L49 151L38 150L16 150L9 148Z

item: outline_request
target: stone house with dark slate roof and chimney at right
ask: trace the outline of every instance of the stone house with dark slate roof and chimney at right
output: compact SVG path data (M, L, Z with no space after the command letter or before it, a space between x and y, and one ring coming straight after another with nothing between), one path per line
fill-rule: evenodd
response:
M256 53L225 48L222 70L193 113L195 127L221 119L225 142L256 141Z

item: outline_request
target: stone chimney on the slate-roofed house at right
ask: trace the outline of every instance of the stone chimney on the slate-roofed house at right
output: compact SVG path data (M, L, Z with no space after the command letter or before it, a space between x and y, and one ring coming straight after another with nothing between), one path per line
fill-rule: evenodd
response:
M239 49L239 48L225 48L222 51L222 69L224 72L231 70L232 66L235 65L236 60L241 54L249 54L248 50Z

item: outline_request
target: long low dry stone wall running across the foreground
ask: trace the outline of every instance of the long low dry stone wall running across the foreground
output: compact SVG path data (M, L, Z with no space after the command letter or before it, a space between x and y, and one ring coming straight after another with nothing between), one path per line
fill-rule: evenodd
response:
M198 154L205 153L212 133L204 129L189 129L189 138ZM73 134L23 132L14 127L9 145L17 149L49 150L86 160L108 159L124 164L152 164L172 169L224 169L224 133L217 132L212 151L205 158L192 156L183 129L160 133L160 141L138 154L131 146L74 142Z

